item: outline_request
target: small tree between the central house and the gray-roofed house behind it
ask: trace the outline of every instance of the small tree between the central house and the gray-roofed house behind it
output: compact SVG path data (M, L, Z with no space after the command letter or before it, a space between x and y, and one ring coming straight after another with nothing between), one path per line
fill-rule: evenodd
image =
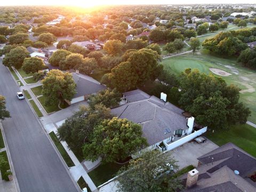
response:
M114 90L106 89L99 91L97 94L90 95L89 105L94 109L94 106L102 103L106 107L113 108L119 105L121 94Z

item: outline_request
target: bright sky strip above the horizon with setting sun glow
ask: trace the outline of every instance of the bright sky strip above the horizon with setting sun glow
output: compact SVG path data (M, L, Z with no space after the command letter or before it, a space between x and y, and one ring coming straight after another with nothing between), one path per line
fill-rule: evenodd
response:
M118 5L118 4L204 4L204 3L256 3L255 0L0 0L0 6L5 5L71 5L80 7L89 7L94 5Z

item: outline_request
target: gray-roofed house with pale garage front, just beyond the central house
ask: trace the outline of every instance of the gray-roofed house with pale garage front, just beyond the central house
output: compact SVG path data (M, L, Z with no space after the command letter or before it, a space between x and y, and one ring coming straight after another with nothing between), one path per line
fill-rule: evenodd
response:
M72 73L72 76L76 83L77 93L74 95L73 99L68 102L69 105L79 101L87 100L90 94L95 94L107 88L105 85L100 84L90 76L78 73Z

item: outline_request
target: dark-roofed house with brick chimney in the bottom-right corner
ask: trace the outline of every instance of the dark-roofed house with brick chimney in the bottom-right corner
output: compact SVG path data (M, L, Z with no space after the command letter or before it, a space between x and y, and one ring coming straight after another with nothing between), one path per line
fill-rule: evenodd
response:
M256 182L256 158L233 143L227 143L197 158L198 167L180 177L184 192L251 192Z

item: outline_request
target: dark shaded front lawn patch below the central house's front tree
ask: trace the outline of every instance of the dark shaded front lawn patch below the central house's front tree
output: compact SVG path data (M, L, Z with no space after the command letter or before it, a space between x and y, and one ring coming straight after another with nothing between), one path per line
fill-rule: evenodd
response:
M96 169L89 172L89 176L94 182L94 184L98 187L101 184L107 182L116 176L116 173L121 169L122 166L117 163L106 163L101 164Z

